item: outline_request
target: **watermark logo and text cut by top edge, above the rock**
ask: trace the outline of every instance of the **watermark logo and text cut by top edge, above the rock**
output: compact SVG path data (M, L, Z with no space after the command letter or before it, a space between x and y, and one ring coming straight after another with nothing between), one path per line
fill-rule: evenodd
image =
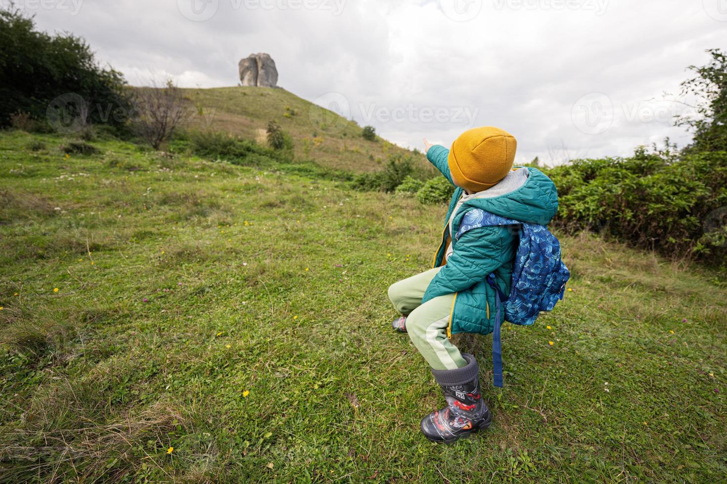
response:
M346 0L222 0L233 10L321 10L341 15ZM204 22L220 8L220 0L177 0L180 13L189 20Z

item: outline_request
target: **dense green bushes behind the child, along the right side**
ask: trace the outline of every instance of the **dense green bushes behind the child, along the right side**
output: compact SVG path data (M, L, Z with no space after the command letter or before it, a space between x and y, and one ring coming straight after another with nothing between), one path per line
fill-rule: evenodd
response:
M625 159L545 171L560 194L553 223L566 231L600 231L672 258L726 261L715 243L725 220L715 213L727 211L727 152L674 160L640 148Z

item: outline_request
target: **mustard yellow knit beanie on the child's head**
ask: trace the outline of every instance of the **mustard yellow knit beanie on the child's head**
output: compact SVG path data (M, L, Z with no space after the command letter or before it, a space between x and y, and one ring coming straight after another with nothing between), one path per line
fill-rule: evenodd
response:
M517 147L515 137L500 128L468 129L452 143L449 171L467 192L481 192L505 178L513 168Z

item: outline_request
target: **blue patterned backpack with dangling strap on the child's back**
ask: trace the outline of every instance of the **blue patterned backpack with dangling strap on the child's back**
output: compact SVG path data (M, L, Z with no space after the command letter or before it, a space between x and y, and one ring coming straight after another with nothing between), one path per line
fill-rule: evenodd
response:
M513 282L510 296L505 297L494 281L494 274L487 282L497 291L497 316L492 334L492 363L494 385L502 387L502 343L500 340L500 305L505 306L505 319L513 324L529 326L540 311L551 311L558 300L563 299L571 273L561 261L561 242L544 225L523 223L512 218L494 215L479 208L470 210L462 218L457 237L475 227L518 225L519 244L515 253Z

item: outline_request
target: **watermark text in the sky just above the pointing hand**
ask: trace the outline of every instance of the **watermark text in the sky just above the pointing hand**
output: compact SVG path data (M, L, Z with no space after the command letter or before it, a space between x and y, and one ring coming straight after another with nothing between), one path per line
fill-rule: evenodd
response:
M462 123L471 128L480 108L464 106L431 107L416 106L411 102L406 106L377 106L377 104L358 104L364 123Z

